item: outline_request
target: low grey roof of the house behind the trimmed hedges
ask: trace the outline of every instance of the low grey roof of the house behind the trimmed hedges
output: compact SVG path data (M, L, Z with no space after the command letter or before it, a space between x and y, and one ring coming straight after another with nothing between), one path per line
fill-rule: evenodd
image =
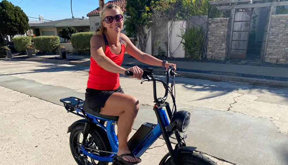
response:
M38 24L29 24L31 27L66 27L66 26L90 26L89 20L82 18L67 18L63 20L48 21Z

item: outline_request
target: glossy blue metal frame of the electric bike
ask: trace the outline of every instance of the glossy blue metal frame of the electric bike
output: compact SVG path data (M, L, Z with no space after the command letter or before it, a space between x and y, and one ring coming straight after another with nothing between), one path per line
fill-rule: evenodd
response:
M166 131L166 127L169 126L170 122L168 120L165 109L163 107L166 107L168 114L169 114L169 111L171 113L169 103L165 103L165 104L160 105L160 106L156 106L156 105L154 106L154 111L156 113L158 123L147 134L147 136L139 143L139 145L132 151L137 157L141 157L141 155L143 155L143 153L145 153L145 151L147 149L149 149L149 147L161 136L161 134L163 134L163 137L166 141L166 144L167 144L167 147L169 149L170 154L173 154L173 148L172 148L172 145L171 145L170 140L169 140L169 137L172 133L171 132L169 133L168 131ZM107 119L104 119L104 118L101 118L101 117L98 117L95 115L91 115L91 114L86 113L86 112L84 112L85 115L83 115L83 110L79 107L76 107L75 110L76 110L76 113L75 112L72 112L72 113L75 113L78 116L81 116L83 118L86 118L85 117L85 115L86 115L87 118L89 118L92 123L97 124L98 126L103 128L107 132L108 140L109 140L110 145L111 145L111 152L117 153L117 151L118 151L118 138L117 138L116 133L115 133L116 121L107 120ZM107 121L106 126L101 124L98 120L104 121L104 122ZM179 141L178 138L177 138L177 140ZM88 151L86 151L84 149L84 146L82 146L82 148L80 150L82 151L83 154L89 156L92 159L98 160L98 161L113 162L113 157L115 156L115 154L111 154L111 155L105 156L105 157L94 155L93 153L89 153Z

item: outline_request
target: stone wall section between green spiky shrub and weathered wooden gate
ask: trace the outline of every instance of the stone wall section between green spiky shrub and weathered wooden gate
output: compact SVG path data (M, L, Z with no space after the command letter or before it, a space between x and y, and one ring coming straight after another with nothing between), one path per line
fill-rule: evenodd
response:
M227 58L230 29L229 18L209 19L207 59L225 60Z

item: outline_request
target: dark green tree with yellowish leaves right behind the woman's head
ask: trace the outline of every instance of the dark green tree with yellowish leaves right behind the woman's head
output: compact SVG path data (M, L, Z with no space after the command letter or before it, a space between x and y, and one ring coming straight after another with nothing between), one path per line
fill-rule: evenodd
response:
M127 0L125 29L128 34L137 34L138 43L141 51L145 51L146 43L149 38L149 18L151 16L150 4L152 0ZM145 28L148 29L145 32Z

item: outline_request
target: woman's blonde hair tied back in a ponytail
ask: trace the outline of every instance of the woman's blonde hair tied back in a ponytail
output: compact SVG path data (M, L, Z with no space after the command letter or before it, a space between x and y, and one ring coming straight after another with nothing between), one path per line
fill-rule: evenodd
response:
M104 27L102 22L105 19L105 13L107 12L107 10L110 10L110 9L113 9L113 8L118 9L121 12L121 14L123 14L123 11L122 11L121 7L119 7L118 5L115 5L113 3L105 5L103 7L103 9L100 11L101 21L100 21L99 27L95 31L96 35L102 35L103 33L107 32L107 28Z

